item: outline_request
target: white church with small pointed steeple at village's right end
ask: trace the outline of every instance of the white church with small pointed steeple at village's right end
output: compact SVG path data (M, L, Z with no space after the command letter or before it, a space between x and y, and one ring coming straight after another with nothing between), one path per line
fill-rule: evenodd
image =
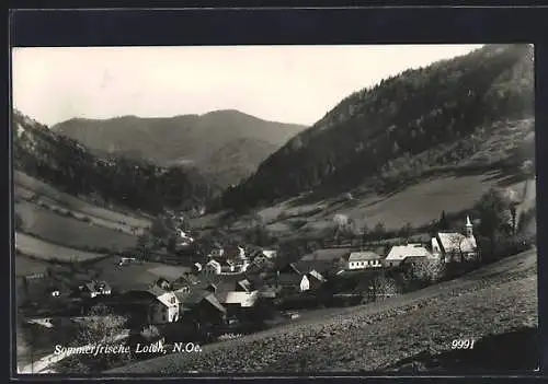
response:
M432 237L432 253L444 263L476 260L480 257L473 224L466 218L464 234L459 232L438 232Z

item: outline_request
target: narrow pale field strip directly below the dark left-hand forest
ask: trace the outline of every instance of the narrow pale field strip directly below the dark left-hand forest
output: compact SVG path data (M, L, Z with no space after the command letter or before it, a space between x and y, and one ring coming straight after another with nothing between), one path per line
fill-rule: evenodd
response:
M50 199L57 202L60 207L68 208L76 212L81 212L89 217L103 219L114 223L125 223L126 225L137 228L148 228L150 225L150 220L147 218L137 217L127 212L115 212L113 210L96 207L82 199L61 193L53 186L19 171L13 171L13 182L15 187L19 186L26 189L26 191L24 191L26 195L34 191L38 195L38 197Z

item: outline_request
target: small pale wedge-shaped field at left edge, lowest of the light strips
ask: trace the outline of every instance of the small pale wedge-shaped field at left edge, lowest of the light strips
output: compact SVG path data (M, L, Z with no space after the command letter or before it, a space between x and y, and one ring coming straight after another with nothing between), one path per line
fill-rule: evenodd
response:
M54 245L48 242L19 232L15 233L15 248L25 255L43 258L45 260L58 259L62 261L70 261L70 260L84 261L105 256L104 254L83 252L79 249ZM21 259L22 258L20 257L15 258L15 269L18 269L16 264L20 263Z

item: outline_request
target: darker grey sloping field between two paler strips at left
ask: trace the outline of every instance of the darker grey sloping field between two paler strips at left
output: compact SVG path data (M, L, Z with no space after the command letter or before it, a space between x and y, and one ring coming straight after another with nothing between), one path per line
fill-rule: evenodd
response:
M109 248L121 251L134 247L137 237L104 226L62 217L27 201L15 203L23 219L24 231L55 244L75 248Z

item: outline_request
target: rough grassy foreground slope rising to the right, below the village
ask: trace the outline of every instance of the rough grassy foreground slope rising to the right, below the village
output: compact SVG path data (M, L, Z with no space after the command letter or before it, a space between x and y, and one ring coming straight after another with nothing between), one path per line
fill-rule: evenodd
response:
M533 249L407 295L346 310L310 311L297 323L204 346L201 353L175 353L111 372L387 371L423 351L448 351L454 339L479 342L537 326ZM477 364L482 366L481 361Z

